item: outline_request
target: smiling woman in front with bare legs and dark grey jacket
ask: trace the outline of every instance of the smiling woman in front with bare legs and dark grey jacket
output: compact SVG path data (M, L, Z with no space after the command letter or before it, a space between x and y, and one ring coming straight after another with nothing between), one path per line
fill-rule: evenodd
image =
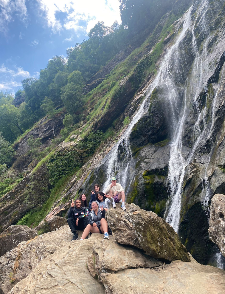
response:
M88 225L84 229L81 240L85 239L89 232L104 234L104 239L109 240L108 223L105 220L106 211L102 206L101 209L99 208L97 201L93 201L91 207L92 211L88 216Z

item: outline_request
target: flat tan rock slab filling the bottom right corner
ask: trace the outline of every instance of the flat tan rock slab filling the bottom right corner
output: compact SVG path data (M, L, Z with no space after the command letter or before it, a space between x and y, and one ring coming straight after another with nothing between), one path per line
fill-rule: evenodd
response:
M161 269L101 274L106 294L224 294L225 272L197 262L174 261Z

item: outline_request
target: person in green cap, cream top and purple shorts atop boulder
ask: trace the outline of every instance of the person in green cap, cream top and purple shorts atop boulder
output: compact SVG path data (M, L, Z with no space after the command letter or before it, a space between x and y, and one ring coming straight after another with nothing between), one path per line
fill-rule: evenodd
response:
M111 178L111 184L109 186L107 186L105 193L109 194L112 198L114 198L114 202L112 203L113 208L116 207L116 203L122 201L121 208L123 210L126 210L126 207L125 207L125 197L126 196L124 193L124 188L119 183L116 183L115 177Z

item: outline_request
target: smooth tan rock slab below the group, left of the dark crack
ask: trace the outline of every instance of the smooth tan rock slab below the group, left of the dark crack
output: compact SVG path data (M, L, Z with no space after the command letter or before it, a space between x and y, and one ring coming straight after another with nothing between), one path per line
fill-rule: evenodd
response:
M70 241L64 248L41 260L29 276L17 283L9 293L105 294L104 286L92 277L87 268L87 258L92 255L93 244L103 237L92 234L87 240Z

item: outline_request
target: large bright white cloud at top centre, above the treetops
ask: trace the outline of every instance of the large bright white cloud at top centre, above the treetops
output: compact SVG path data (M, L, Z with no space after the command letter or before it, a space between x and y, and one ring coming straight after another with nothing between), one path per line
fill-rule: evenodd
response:
M65 28L67 30L79 29L87 33L98 21L104 21L106 26L111 26L115 20L120 22L118 0L36 0L44 12L48 26L54 33ZM64 23L57 19L56 14L66 13ZM85 21L86 26L81 26L79 21Z

